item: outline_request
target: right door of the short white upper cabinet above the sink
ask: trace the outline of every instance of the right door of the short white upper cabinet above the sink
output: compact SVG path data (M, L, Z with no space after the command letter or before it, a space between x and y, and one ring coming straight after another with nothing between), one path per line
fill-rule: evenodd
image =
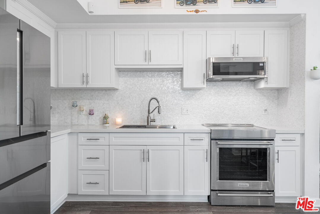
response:
M149 64L182 65L182 31L149 31Z

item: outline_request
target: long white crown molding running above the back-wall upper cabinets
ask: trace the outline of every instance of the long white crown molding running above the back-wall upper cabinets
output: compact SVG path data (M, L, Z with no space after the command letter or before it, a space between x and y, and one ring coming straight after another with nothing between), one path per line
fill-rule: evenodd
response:
M136 28L261 28L290 27L289 22L228 23L57 23L56 29L136 29Z

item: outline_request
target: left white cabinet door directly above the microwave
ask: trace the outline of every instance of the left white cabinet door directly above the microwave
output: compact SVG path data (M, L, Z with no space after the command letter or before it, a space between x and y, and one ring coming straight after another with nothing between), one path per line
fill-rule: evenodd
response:
M207 57L235 56L234 30L207 31Z

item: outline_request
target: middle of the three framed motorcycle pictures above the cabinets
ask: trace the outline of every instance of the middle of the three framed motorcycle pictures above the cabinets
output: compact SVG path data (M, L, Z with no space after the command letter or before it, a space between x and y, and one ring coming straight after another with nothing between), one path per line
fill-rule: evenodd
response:
M175 8L183 8L186 10L194 10L196 8L218 8L219 1L222 0L173 0Z

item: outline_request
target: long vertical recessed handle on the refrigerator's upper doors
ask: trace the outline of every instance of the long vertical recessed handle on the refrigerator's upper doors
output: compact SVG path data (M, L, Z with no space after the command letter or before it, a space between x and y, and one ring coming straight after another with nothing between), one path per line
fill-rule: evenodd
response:
M23 125L23 34L17 30L17 125Z

